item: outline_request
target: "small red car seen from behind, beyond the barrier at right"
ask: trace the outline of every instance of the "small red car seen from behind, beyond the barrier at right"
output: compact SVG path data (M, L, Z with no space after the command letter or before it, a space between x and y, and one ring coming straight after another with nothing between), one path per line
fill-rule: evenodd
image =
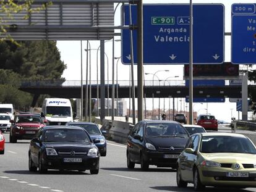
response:
M197 125L201 125L205 130L218 131L218 120L214 115L199 115Z

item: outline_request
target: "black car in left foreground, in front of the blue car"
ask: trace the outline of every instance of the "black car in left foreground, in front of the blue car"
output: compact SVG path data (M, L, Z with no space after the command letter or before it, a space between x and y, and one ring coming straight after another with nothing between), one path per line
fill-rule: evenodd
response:
M87 131L80 127L47 126L30 141L28 167L40 173L48 169L90 170L98 174L100 152Z

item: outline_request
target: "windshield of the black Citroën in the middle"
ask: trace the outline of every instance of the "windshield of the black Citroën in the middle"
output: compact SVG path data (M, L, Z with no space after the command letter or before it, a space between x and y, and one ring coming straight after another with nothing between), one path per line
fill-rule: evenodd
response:
M177 123L147 123L145 130L148 137L188 137L184 127Z

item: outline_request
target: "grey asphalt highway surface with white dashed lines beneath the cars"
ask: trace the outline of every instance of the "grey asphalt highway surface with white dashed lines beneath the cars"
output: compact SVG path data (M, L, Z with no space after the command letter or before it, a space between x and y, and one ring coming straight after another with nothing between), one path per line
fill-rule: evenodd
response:
M89 171L49 170L47 174L28 172L28 140L9 143L6 136L5 154L0 156L0 192L121 192L121 191L194 191L192 185L181 189L176 186L176 172L150 166L142 172L139 165L134 170L126 168L126 146L108 141L106 157L100 158L100 173L90 175ZM236 190L234 188L211 188L205 191L256 191L256 188Z

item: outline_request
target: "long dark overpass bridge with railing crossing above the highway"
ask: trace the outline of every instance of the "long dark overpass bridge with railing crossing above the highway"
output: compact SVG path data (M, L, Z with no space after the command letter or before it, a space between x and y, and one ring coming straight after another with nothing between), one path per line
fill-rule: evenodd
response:
M100 96L100 85L97 86L96 81L91 81L91 83L92 98L97 98L97 89ZM118 81L118 84L114 85L115 88L118 87L118 98L130 97L131 86L129 83L129 81ZM144 94L147 98L151 98L152 94L155 98L186 98L189 96L189 87L185 86L183 80L145 81L144 85ZM84 93L85 86L85 81L83 81ZM112 84L108 84L106 81L105 98L108 98L108 93L109 98L112 97L112 87ZM32 106L34 106L40 94L49 94L58 98L80 98L81 81L23 81L19 89L34 94L32 103ZM90 90L89 85L88 90ZM255 90L256 85L248 86L249 94ZM228 83L224 86L194 86L194 98L241 98L241 93L241 85L228 85ZM135 82L135 97L136 95L137 82Z

